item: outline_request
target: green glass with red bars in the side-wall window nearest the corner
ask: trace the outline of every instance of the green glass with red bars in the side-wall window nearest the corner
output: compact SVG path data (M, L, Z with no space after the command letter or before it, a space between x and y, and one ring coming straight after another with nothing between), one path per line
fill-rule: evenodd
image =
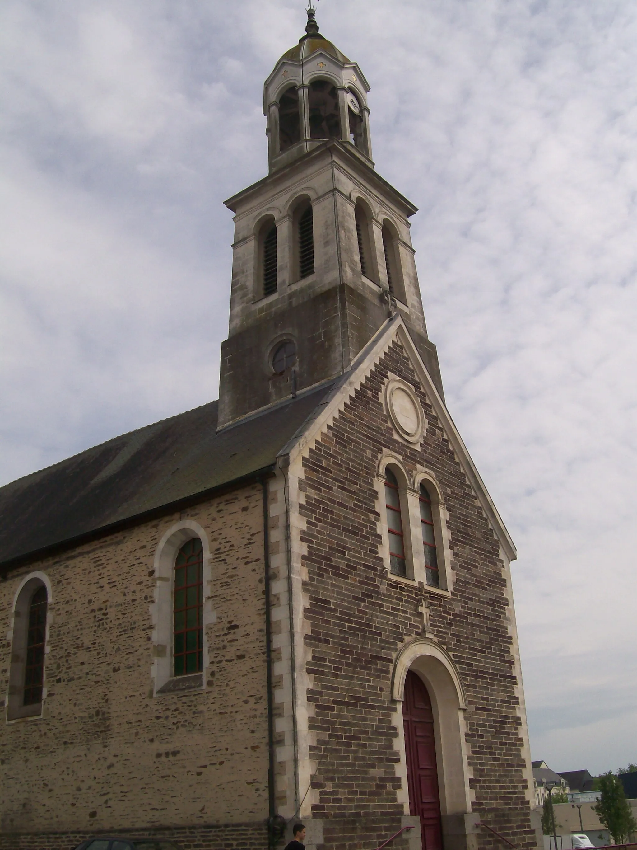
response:
M203 572L203 547L199 537L193 537L175 561L174 676L204 669Z

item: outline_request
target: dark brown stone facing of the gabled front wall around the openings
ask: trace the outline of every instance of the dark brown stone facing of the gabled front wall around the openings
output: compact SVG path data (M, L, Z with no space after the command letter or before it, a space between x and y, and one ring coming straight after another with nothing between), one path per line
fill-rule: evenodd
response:
M383 409L390 372L414 387L426 412L420 448L397 439ZM431 469L444 490L453 553L449 596L386 573L374 486L386 448L408 469ZM307 450L303 469L305 643L313 681L307 700L312 758L318 764L313 816L356 818L363 825L382 815L388 819L386 831L400 828L392 666L403 643L423 633L424 603L426 632L453 658L468 696L472 809L518 847L535 847L508 615L512 600L499 541L398 344ZM480 847L497 843L487 830L478 832L478 840Z

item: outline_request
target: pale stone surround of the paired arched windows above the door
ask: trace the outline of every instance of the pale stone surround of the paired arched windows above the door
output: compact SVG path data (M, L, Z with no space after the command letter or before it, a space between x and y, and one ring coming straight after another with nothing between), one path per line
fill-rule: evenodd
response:
M389 568L389 530L387 527L385 507L385 470L392 467L392 472L398 481L400 493L403 540L405 545L405 560L407 577L394 575ZM420 530L420 484L425 484L431 495L431 513L434 520L434 537L438 556L440 587L431 587L426 583L425 551L422 546L422 531ZM416 467L416 472L410 476L403 465L402 459L390 451L383 452L378 464L375 479L376 492L381 505L381 557L385 562L388 578L392 581L404 582L412 587L425 585L426 591L449 596L453 587L451 570L451 552L449 549L448 512L443 501L440 486L436 477L425 467Z

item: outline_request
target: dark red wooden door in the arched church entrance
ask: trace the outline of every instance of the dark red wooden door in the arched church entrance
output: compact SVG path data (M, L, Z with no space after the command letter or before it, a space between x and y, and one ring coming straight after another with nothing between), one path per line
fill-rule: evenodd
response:
M409 809L420 817L423 850L443 850L433 710L425 685L408 672L403 698Z

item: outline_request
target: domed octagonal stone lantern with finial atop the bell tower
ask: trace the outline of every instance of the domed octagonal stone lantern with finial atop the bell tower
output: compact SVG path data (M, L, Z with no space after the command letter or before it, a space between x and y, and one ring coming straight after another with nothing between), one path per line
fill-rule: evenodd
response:
M281 56L263 90L270 171L329 139L352 144L373 165L368 92L358 65L321 35L308 8L305 35Z

